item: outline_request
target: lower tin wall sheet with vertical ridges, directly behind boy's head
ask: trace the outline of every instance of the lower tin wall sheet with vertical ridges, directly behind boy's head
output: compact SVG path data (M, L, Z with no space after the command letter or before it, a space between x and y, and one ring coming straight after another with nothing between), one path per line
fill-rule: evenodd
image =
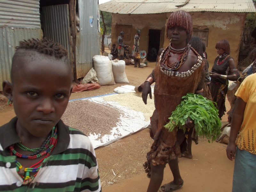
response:
M20 41L31 38L42 38L41 29L28 28L0 28L0 84L4 80L11 81L11 66L12 56L15 52L15 47L19 45ZM0 91L3 91L0 86Z

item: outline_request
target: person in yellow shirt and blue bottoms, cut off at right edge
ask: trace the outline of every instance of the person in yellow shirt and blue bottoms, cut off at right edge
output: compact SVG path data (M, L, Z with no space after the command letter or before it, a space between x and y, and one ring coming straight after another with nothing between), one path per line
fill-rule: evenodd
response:
M235 109L231 121L229 142L226 149L228 159L231 161L235 159L232 192L256 191L255 183L248 182L254 178L256 172L255 61L252 64L252 71L254 74L246 77L236 91L236 105L234 106Z

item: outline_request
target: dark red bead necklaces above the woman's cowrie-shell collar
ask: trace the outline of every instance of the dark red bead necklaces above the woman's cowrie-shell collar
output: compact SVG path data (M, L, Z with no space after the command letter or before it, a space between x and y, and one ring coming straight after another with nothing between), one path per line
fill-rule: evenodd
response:
M160 67L162 67L163 70L167 70L167 71L177 70L187 60L189 50L190 50L189 44L188 44L188 46L184 47L183 49L174 49L172 47L172 45L170 44L161 59ZM168 58L171 57L170 52L181 53L179 56L179 59L173 64L168 64Z

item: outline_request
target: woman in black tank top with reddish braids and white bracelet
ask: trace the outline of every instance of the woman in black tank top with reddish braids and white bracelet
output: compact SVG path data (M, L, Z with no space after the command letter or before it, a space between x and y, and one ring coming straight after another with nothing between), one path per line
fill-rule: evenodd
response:
M228 92L228 80L237 80L237 69L235 61L230 57L230 46L226 39L220 40L216 43L218 56L214 60L212 70L210 71L211 77L211 93L212 100L217 103L219 109L219 117L226 112L225 98Z

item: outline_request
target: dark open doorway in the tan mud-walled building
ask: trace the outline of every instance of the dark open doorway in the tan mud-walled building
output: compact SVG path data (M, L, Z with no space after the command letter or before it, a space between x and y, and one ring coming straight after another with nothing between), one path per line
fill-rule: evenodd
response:
M148 61L156 62L160 47L161 30L149 29L148 32Z

